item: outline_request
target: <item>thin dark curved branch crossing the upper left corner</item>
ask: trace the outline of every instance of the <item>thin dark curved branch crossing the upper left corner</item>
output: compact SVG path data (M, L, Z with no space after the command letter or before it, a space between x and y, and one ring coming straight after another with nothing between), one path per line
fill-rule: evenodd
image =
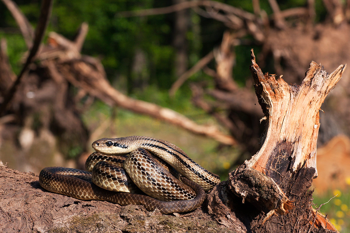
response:
M16 88L19 85L23 75L27 71L27 68L29 64L33 61L33 58L36 55L36 52L38 51L38 48L41 44L42 38L44 36L45 29L48 24L48 19L51 14L51 8L52 8L52 0L43 0L41 9L40 9L40 16L38 19L38 24L35 29L35 36L34 36L34 42L33 42L33 47L31 48L28 58L26 60L26 63L23 65L23 68L18 75L16 81L13 83L12 87L9 89L7 95L5 96L4 101L1 104L0 107L0 116L3 114L5 111L7 104L11 101L14 93L16 92Z

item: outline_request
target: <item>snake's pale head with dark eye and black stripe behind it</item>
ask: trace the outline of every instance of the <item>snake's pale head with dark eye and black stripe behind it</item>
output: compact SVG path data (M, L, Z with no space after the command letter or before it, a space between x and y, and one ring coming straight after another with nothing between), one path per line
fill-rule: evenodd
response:
M101 138L92 143L92 148L102 154L127 154L129 146L124 144L121 138Z

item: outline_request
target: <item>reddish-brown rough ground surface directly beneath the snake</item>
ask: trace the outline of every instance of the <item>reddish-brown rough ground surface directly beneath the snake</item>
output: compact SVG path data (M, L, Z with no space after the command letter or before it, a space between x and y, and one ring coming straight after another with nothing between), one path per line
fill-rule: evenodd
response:
M0 232L235 232L203 208L162 215L143 206L81 201L40 187L38 176L0 161Z

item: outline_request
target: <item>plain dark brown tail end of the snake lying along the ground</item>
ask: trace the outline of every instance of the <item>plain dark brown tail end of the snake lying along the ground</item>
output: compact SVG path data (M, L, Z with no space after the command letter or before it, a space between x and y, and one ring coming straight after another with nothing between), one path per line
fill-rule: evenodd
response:
M181 180L196 192L195 199L163 202L145 195L105 190L91 182L90 172L73 168L47 167L39 174L41 187L51 192L82 200L97 199L120 205L143 205L148 211L159 209L163 214L191 211L203 203L205 199L203 188L185 177L181 177Z

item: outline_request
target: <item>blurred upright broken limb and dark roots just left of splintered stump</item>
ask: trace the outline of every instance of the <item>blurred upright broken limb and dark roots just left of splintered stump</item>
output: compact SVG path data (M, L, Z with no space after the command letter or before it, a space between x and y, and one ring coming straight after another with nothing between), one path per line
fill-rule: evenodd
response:
M256 97L250 88L238 88L232 79L232 68L235 64L233 46L237 43L235 38L245 34L245 30L237 31L235 34L226 31L221 45L213 52L216 58L216 71L203 67L203 71L213 77L215 89L204 90L205 85L197 83L191 85L191 90L192 100L197 107L202 108L219 124L229 129L233 138L240 142L241 148L255 153L260 126L252 124L250 120L258 121L262 117L261 108L257 105ZM203 60L204 58L201 61ZM210 95L216 100L207 101L204 95Z

